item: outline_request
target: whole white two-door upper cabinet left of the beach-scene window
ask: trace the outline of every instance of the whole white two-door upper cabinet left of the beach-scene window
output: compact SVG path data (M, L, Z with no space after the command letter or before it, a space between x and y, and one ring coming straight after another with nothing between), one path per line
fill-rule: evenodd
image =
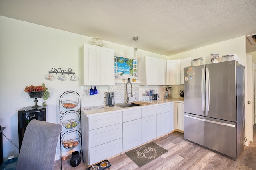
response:
M84 44L82 47L82 86L115 84L114 49Z

